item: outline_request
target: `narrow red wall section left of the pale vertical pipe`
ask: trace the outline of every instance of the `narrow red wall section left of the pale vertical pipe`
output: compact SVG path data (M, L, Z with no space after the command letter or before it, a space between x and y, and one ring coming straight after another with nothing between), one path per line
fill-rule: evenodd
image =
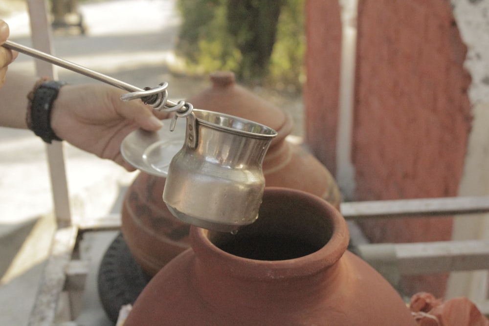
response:
M335 175L341 20L338 1L306 1L306 140Z

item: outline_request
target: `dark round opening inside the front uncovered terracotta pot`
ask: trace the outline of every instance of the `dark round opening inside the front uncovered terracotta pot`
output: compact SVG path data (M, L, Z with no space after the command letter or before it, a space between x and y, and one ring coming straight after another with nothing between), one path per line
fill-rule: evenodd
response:
M208 231L207 238L234 256L282 261L318 251L328 243L332 234L333 222L320 206L295 198L287 201L264 198L254 223L244 226L236 235Z

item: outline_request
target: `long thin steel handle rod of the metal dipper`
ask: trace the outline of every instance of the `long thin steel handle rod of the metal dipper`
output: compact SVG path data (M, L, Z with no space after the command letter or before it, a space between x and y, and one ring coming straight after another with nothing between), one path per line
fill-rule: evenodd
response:
M144 91L143 88L135 87L131 84L125 83L123 81L120 81L120 80L112 78L110 76L101 74L99 72L93 71L93 70L86 68L84 66L74 64L70 61L55 57L53 55L44 53L42 51L38 51L36 49L30 48L28 46L24 46L24 45L19 44L19 43L15 43L15 42L7 40L7 41L5 41L5 43L2 44L2 46L6 47L8 49L11 49L11 50L21 52L21 53L26 54L28 56L31 56L33 58L46 61L46 62L51 63L53 65L58 65L60 67L66 68L68 70L77 72L79 74L85 75L85 76L93 78L93 79L96 79L96 80L104 82L106 84L125 89L125 90L130 91L130 92ZM173 102L171 100L167 100L167 103L171 106L176 106L178 104L178 103Z

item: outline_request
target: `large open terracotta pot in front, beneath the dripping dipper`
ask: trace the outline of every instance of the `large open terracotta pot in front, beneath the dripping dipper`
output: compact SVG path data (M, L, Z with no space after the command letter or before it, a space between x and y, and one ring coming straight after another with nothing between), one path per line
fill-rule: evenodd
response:
M124 326L416 325L394 288L346 251L345 220L317 196L267 188L260 218L236 236L190 235Z

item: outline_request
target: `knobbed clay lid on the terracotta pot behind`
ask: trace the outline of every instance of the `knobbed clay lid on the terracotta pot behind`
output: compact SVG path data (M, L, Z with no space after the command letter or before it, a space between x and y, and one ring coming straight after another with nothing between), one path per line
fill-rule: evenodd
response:
M235 115L266 125L278 132L275 141L292 130L292 119L282 109L237 85L232 71L210 75L212 86L187 99L194 108Z

